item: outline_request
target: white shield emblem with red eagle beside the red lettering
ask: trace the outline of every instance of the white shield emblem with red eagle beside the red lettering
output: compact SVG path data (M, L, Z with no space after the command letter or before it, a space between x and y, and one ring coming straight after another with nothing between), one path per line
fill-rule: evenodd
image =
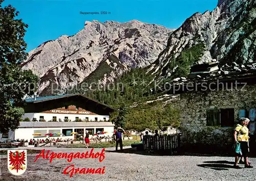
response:
M27 150L8 150L8 170L13 175L21 175L27 169Z

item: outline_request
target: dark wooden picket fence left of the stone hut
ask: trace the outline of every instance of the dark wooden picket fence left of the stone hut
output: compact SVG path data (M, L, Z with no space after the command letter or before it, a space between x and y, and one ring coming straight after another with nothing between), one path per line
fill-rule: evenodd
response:
M180 148L180 134L172 135L144 135L143 147L144 151L154 151L164 154L173 154Z

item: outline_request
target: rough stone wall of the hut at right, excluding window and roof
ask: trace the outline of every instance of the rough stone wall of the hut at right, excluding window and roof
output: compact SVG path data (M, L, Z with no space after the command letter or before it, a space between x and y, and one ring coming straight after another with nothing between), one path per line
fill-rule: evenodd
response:
M183 143L216 144L223 146L233 142L233 127L206 126L206 111L212 106L218 109L233 108L234 118L239 119L239 109L256 107L256 86L241 90L197 91L183 93L179 101ZM234 122L235 124L236 122Z

